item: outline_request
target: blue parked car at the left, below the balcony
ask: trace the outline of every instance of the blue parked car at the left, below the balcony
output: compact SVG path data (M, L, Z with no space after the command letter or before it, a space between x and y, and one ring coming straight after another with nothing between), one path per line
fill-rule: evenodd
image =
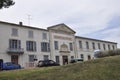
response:
M15 64L13 62L3 63L2 70L13 70L13 69L21 69L21 66L19 64Z

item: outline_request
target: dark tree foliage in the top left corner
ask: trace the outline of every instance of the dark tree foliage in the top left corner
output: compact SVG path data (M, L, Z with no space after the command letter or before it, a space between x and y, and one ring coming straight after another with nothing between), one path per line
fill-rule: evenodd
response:
M15 2L13 0L0 0L0 9L9 8L10 6L14 5Z

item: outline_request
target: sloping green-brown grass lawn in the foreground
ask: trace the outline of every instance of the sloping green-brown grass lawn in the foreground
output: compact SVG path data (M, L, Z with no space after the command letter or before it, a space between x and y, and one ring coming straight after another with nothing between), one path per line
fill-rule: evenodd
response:
M3 71L0 80L120 80L120 56L60 67Z

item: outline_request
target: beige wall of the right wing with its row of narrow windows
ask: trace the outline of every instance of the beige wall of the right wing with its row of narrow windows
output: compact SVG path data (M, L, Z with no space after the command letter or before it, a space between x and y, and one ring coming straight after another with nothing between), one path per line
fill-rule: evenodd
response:
M82 41L82 48L79 48L79 41ZM86 48L86 41L89 43L89 49ZM93 49L92 43L95 43L95 49ZM77 54L78 58L80 57L80 54L84 55L84 60L88 60L88 55L91 56L91 58L94 58L94 51L99 50L98 48L98 43L100 43L101 51L104 51L103 44L105 44L106 50L108 49L108 45L110 45L111 50L113 50L113 47L117 49L117 44L115 43L110 43L110 42L102 42L102 41L96 41L96 40L91 40L91 39L82 39L82 38L76 38L76 48L77 48Z

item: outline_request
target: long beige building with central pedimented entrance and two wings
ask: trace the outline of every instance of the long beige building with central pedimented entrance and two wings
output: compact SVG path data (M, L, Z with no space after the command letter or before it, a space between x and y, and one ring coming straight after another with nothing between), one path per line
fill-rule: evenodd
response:
M61 65L73 58L89 60L94 50L114 50L117 43L75 36L65 24L47 29L0 21L0 59L32 67L35 60L52 59Z

